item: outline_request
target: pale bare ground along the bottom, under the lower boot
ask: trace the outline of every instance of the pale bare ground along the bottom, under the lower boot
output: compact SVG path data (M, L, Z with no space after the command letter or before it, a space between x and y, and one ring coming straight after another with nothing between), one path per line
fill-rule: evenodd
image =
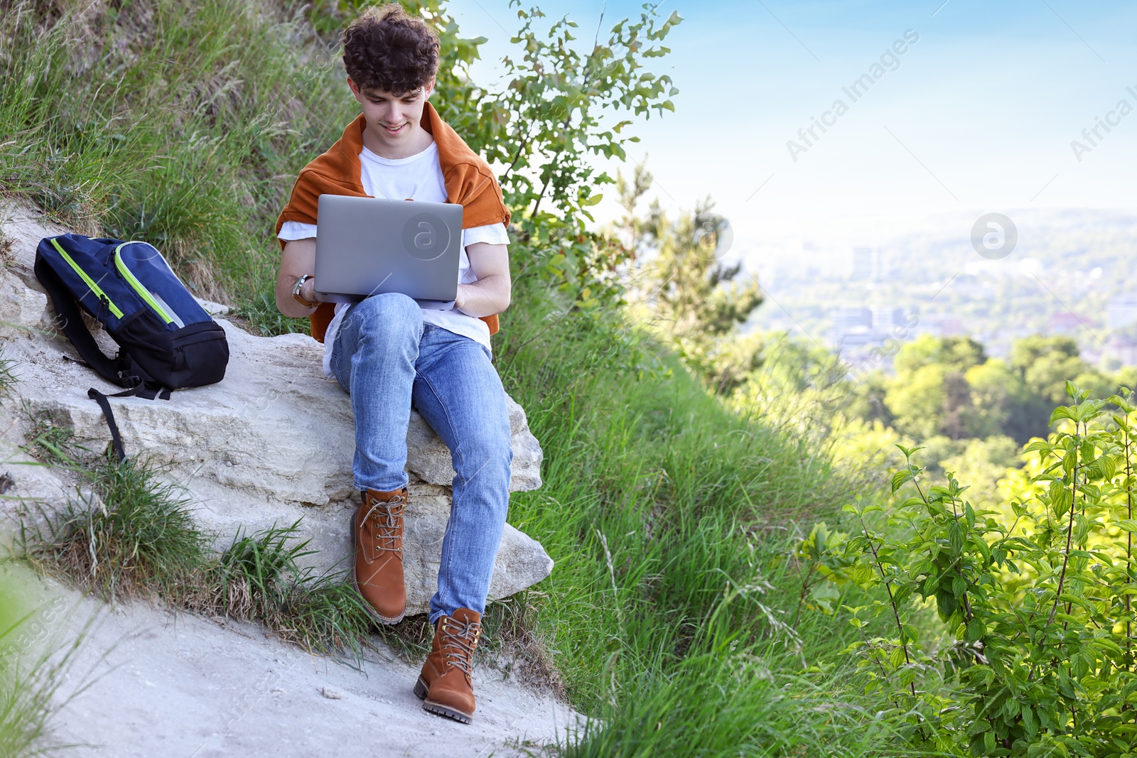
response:
M509 658L478 659L478 710L472 724L458 724L425 711L412 692L421 661L377 639L363 660L338 663L282 645L256 624L144 602L110 608L19 578L38 590L25 627L33 640L60 649L83 635L48 723L48 744L74 745L63 755L524 758L586 725L517 682Z

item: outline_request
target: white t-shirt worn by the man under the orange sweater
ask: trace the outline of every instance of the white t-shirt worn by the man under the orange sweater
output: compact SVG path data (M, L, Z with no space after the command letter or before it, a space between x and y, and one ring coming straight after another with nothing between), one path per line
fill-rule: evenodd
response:
M446 202L446 182L442 180L442 165L438 159L438 145L433 142L422 152L407 158L382 158L368 150L366 147L359 153L359 166L362 168L359 178L363 191L373 198L388 198L391 200L422 200L425 202ZM300 222L284 222L281 226L279 238L281 240L305 240L316 236L315 224L301 224ZM458 283L470 284L476 282L478 277L470 268L470 258L466 256L466 247L475 242L489 242L490 244L509 244L509 234L505 224L490 224L488 226L474 226L462 230L462 248L458 253ZM324 334L324 375L334 378L332 374L332 348L335 344L335 335L340 331L340 322L343 320L343 311L348 303L335 303L335 316L327 325ZM426 310L423 309L423 322L441 326L445 330L468 336L475 342L490 347L490 327L482 319L471 316L457 308L451 310Z

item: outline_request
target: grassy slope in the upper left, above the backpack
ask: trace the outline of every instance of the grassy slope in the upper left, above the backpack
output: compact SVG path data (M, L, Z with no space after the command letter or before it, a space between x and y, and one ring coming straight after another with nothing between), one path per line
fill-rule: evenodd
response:
M0 17L0 192L157 244L199 295L251 301L296 175L357 113L302 7L52 11L17 1Z

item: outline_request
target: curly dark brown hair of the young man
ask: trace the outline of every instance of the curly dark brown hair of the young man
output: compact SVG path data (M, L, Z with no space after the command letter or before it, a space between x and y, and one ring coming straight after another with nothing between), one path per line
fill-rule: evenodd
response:
M401 97L438 72L438 34L398 2L372 7L343 30L343 68L360 90Z

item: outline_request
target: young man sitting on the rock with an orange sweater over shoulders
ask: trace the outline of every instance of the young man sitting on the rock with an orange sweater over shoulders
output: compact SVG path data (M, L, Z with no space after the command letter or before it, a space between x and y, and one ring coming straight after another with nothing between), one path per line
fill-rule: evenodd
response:
M439 41L398 3L368 9L343 33L343 64L363 114L300 173L276 222L283 245L276 307L309 316L324 342L324 373L351 397L355 485L354 578L373 616L401 620L407 424L414 407L450 449L456 476L430 601L431 652L415 684L428 710L470 723L472 656L509 493L509 418L490 363L496 314L509 305L509 211L489 166L426 101ZM458 294L453 310L422 310L409 297L315 301L316 210L322 193L463 206Z

